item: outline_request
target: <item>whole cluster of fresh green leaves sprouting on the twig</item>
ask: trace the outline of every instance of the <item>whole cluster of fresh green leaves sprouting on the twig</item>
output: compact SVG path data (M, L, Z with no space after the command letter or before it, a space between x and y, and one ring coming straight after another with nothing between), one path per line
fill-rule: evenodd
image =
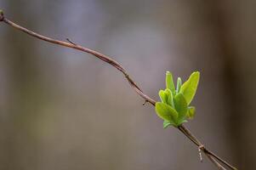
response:
M178 77L176 88L173 75L166 72L166 89L159 91L161 102L156 102L156 114L163 119L163 127L179 127L187 119L195 116L196 108L190 106L196 94L200 73L195 71L189 79L182 84Z

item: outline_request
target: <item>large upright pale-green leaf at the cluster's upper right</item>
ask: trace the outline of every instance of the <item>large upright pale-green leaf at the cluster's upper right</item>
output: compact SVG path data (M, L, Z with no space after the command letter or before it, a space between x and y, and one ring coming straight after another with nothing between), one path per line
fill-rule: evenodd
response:
M199 77L200 73L198 71L193 72L191 77L189 77L189 79L180 88L180 93L184 95L188 105L191 104L191 101L196 94Z

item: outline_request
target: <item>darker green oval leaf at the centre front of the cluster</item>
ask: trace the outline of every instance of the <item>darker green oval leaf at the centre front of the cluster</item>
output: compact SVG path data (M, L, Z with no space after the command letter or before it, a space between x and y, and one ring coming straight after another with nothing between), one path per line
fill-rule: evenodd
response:
M177 94L174 97L174 105L175 110L179 113L179 120L184 119L188 111L188 105L183 94Z

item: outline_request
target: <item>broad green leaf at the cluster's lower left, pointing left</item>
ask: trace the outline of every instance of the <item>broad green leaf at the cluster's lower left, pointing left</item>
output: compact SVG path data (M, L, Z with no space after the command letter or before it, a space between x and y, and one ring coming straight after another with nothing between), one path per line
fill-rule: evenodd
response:
M165 103L156 102L156 114L163 120L168 122L176 122L178 113L170 105Z

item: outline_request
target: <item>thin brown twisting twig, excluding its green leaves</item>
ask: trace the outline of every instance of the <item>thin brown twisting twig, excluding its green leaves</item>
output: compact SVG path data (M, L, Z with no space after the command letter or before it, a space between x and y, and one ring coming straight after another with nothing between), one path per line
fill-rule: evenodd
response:
M36 32L30 31L22 26L19 26L17 24L15 24L14 22L6 19L3 15L3 11L0 10L0 22L3 21L4 23L6 23L9 26L12 26L20 31L25 32L26 34L32 36L32 37L36 37L38 39L41 39L45 42L51 42L60 46L64 46L67 48L74 48L77 50L80 50L82 52L88 53L88 54L92 54L94 55L96 58L101 59L103 61L105 61L106 63L114 66L115 68L117 68L118 71L121 71L122 74L124 75L124 77L127 79L127 81L129 82L130 86L132 88L134 88L134 91L140 95L140 97L142 97L143 99L145 99L145 103L149 102L151 103L151 105L155 106L156 105L156 101L154 99L151 99L149 96L147 96L142 90L141 88L139 88L139 86L134 82L134 80L128 75L128 72L123 68L123 66L121 64L119 64L116 60L111 59L110 57L106 56L105 54L100 54L97 51L94 51L92 49L89 48L84 48L80 45L77 45L77 43L71 42L71 40L67 39L68 42L63 42L60 40L56 40L54 38L50 38L50 37L45 37L43 35L37 34ZM144 105L145 105L144 103ZM219 164L219 162L223 163L226 167L230 167L230 169L236 170L236 167L231 166L227 161L221 159L219 156L213 154L212 151L208 150L207 148L205 148L205 146L198 140L196 139L196 137L183 125L179 126L179 131L181 133L184 133L185 136L188 139L191 139L191 141L196 144L196 146L198 147L198 150L200 151L200 157L201 157L201 150L202 152L208 156L208 159L210 161L213 162L213 164L218 167L218 169L221 170L225 170L225 167L222 167L222 165ZM201 158L202 159L202 158Z

